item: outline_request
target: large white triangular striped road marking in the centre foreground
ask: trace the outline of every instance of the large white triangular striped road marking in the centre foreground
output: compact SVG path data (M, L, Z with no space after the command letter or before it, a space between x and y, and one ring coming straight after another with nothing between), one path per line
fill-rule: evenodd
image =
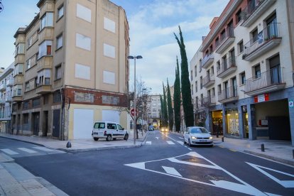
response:
M180 158L180 157L183 157L183 156L194 156L194 157L197 157L197 158L202 158L202 159L206 160L207 162L209 162L212 165L205 165L205 164L200 164L200 163L190 163L188 161L182 161L182 160L177 159L177 158ZM170 160L171 162L175 162L175 163L183 163L183 164L187 164L187 165L195 165L195 166L200 166L200 167L205 167L205 168L212 168L212 169L216 169L216 170L222 170L224 173L227 173L227 175L230 175L232 178L237 180L239 183L232 183L232 182L225 181L225 180L219 180L219 181L209 180L211 183L205 183L205 182L201 182L201 181L198 181L198 180L193 180L193 179L190 179L190 178L183 178L182 176L178 176L178 175L171 175L170 173L163 173L163 172L159 172L159 171L156 171L156 170L149 170L149 169L145 168L145 163L151 163L151 162L160 161L160 160ZM219 165L213 163L212 161L208 160L207 158L204 158L203 156L201 156L200 154L198 154L196 152L190 152L190 153L184 154L182 156L175 156L173 158L160 159L160 160L150 160L150 161L146 161L146 162L131 163L131 164L125 164L125 165L129 166L129 167L133 167L133 168L138 168L138 169L141 169L141 170L148 170L148 171L151 171L153 173L160 173L160 174L163 174L163 175L173 176L174 178L180 178L180 179L188 180L188 181L194 182L194 183L200 183L202 185L209 185L209 186L212 186L212 187L220 187L220 188L227 189L227 190L233 190L233 191L245 193L245 194L248 194L248 195L266 195L264 192L261 192L260 190L256 189L255 187L249 185L248 183L245 183L240 178L236 177L232 173L229 173L229 171L224 170L224 168L219 167Z

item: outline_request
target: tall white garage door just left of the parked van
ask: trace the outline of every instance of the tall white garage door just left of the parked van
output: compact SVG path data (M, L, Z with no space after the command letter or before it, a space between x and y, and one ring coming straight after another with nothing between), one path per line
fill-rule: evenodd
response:
M92 138L93 109L74 110L74 139Z

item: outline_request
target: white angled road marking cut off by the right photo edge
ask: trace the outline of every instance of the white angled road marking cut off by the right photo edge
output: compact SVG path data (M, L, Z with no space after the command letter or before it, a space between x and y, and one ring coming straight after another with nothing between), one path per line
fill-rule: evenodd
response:
M294 175L292 175L290 173L281 172L279 170L273 170L271 168L266 168L266 167L263 167L261 165L255 165L253 163L247 163L247 164L249 164L251 167L255 168L256 170L260 171L261 173L263 173L264 175L266 175L268 178L271 178L271 180L273 180L276 183L282 185L283 187L294 187L294 180L278 180L278 178L276 178L273 175L267 173L265 170L262 170L261 168L266 169L266 170L271 170L271 171L274 171L276 173L281 173L283 175L288 175L288 176L294 178Z

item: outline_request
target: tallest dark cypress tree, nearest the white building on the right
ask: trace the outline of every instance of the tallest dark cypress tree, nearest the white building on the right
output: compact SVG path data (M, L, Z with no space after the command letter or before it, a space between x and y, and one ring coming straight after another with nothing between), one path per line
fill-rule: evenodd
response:
M180 68L181 68L180 81L182 85L182 99L183 99L183 109L184 109L184 115L185 115L185 124L186 126L194 126L194 114L193 114L191 85L189 80L189 71L188 71L188 63L187 63L187 54L186 54L183 34L182 34L182 31L180 30L180 26L179 26L179 31L180 31L180 40L178 36L176 35L175 35L175 39L178 41L178 45L180 46L180 56L182 58L182 62L180 63Z

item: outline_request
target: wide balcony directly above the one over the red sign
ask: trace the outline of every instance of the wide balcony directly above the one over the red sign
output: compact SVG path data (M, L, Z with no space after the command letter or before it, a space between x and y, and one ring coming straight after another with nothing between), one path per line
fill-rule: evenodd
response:
M275 48L281 43L282 38L279 33L280 23L270 23L264 28L257 37L250 40L244 45L243 60L252 61L261 55Z

